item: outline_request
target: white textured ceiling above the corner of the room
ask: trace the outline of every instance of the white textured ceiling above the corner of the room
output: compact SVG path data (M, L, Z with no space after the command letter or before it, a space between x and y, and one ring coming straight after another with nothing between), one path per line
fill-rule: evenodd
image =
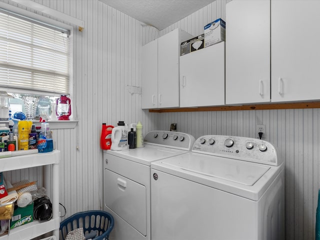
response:
M177 22L214 0L99 0L158 30Z

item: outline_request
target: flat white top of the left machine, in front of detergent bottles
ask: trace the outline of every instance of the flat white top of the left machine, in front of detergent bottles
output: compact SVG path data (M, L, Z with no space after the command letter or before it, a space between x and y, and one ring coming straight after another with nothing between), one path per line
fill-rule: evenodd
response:
M145 144L144 147L133 148L127 151L106 150L105 153L122 157L134 162L150 165L150 162L179 155L186 150Z

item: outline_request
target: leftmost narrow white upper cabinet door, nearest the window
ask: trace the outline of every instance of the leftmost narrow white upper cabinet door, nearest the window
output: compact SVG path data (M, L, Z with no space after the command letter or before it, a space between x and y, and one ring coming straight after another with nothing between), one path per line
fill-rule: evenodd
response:
M157 107L157 39L142 46L142 108Z

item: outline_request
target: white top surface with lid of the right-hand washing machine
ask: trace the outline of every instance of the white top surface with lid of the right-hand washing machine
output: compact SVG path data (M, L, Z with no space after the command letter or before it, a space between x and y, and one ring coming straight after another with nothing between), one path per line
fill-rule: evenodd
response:
M196 152L151 162L152 169L257 201L283 169Z

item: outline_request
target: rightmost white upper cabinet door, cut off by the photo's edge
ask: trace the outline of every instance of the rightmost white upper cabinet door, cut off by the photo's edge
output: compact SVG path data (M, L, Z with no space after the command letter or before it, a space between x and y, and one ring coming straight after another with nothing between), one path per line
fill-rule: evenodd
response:
M320 1L271 0L271 100L320 99Z

